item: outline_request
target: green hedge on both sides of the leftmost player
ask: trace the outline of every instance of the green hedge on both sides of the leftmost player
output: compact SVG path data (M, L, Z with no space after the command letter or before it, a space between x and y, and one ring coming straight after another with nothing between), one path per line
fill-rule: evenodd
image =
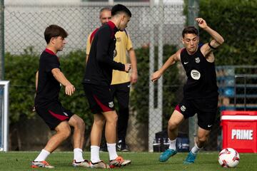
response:
M84 51L74 51L66 56L61 56L62 71L76 87L76 92L74 95L67 96L64 93L64 88L61 88L60 100L65 108L84 118L86 126L90 127L92 123L91 112L81 84L84 76L85 56ZM6 80L11 83L9 91L11 123L19 121L21 115L26 115L28 118L35 115L31 108L34 105L35 73L38 67L39 54L36 54L31 47L26 48L24 53L19 56L6 53Z

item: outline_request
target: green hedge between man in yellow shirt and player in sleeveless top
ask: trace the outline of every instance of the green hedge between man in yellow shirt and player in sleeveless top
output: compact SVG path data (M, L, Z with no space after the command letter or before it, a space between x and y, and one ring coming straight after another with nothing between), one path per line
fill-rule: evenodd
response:
M175 46L165 45L163 47L163 63L175 53ZM157 48L155 49L157 63ZM138 82L131 91L131 108L136 110L138 123L148 123L148 98L149 98L149 48L136 49L136 58L138 61ZM156 66L156 70L157 70ZM172 66L168 68L163 75L163 117L166 122L171 115L175 100L176 89L171 85L178 83L178 68ZM156 83L155 83L156 84ZM155 85L155 88L156 85ZM165 99L165 100L164 100ZM166 125L166 123L164 123Z

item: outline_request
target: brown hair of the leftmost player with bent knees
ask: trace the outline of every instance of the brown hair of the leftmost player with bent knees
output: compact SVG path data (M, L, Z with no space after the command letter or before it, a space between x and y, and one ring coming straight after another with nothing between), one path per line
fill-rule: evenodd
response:
M54 24L46 27L46 30L44 31L44 38L47 44L50 42L51 38L58 36L66 38L68 36L68 33L64 30L64 28L61 28L60 26Z

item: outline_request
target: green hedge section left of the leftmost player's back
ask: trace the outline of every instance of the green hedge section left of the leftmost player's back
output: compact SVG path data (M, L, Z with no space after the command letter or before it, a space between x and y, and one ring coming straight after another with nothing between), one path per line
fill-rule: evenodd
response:
M21 115L28 118L34 116L35 73L38 68L39 56L29 47L19 56L6 53L5 78L10 81L9 113L14 123Z

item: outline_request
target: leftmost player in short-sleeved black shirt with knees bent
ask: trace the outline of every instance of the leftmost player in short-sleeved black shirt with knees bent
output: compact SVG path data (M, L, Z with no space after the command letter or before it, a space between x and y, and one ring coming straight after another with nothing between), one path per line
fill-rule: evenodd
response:
M41 53L39 59L39 71L36 73L36 113L45 121L51 130L56 130L47 142L43 150L36 159L31 162L31 167L54 168L46 162L51 152L69 138L71 127L74 128L74 167L89 167L89 162L84 160L82 147L84 143L85 123L78 115L71 113L62 107L59 101L59 91L61 86L65 87L66 95L72 95L75 87L67 80L61 72L59 58L56 56L58 51L62 51L66 44L65 38L68 33L60 26L51 25L44 31L46 49Z

